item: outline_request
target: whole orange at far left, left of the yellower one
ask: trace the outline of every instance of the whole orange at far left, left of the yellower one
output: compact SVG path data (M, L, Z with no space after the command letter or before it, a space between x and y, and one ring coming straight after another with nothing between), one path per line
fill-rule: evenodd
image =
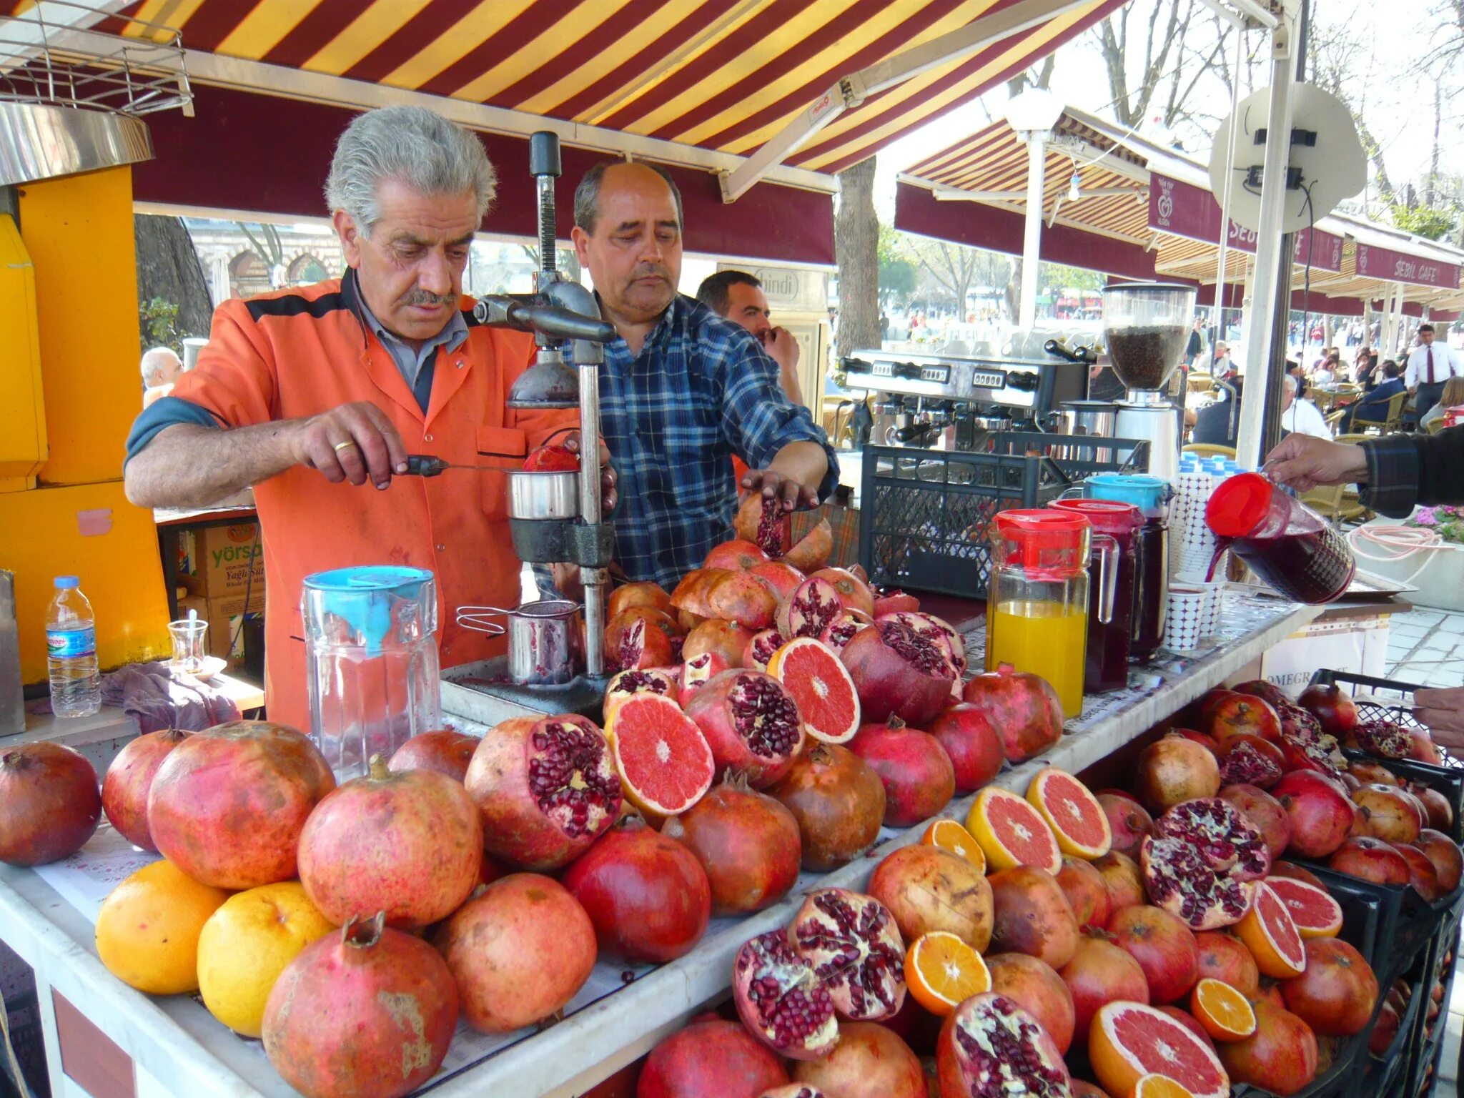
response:
M97 955L117 979L149 996L198 991L198 938L227 899L167 859L143 865L101 902Z

